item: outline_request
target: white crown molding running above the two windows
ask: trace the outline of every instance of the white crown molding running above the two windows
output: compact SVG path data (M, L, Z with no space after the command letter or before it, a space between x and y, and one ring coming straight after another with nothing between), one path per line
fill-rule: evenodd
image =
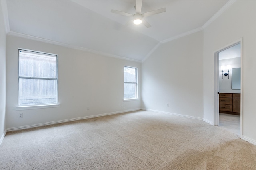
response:
M105 52L102 52L102 51L87 49L87 48L84 48L84 47L69 45L69 44L65 44L65 43L60 43L60 42L57 42L57 41L52 41L52 40L44 39L44 38L40 38L40 37L34 37L34 36L31 36L31 35L17 33L17 32L14 32L14 31L8 32L8 35L15 36L15 37L22 37L22 38L26 38L26 39L30 39L30 40L35 40L35 41L40 41L40 42L43 42L43 43L59 45L59 46L62 46L62 47L68 47L68 48L72 48L72 49L82 50L82 51L86 51L86 52L90 52L90 53L94 53L94 54L98 54L98 55L104 55L104 56L107 56L107 57L114 57L114 58L117 58L117 59L123 59L123 60L129 60L129 61L134 61L134 62L141 63L140 60L129 59L129 58L126 58L126 57L121 57L121 56L118 56L118 55L113 55L113 54L105 53Z

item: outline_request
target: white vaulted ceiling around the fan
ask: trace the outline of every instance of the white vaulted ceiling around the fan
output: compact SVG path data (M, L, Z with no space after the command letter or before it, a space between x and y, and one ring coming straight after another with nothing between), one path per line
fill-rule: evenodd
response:
M123 25L135 13L135 0L11 0L10 31L66 45L142 61L158 43L201 28L227 0L143 0L142 13L166 7L144 18L152 27Z

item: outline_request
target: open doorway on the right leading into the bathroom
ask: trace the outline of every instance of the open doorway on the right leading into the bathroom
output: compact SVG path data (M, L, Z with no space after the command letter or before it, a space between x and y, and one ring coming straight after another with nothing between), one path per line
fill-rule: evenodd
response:
M214 53L214 125L242 136L242 39Z

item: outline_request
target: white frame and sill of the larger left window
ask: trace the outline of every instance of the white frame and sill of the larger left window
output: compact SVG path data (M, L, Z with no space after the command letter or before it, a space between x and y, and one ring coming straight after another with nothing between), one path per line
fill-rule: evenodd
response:
M20 50L28 51L28 52L32 52L32 53L39 53L39 54L46 55L46 56L47 55L48 56L56 56L56 78L20 76ZM57 86L56 100L57 100L57 102L56 103L46 103L46 104L20 105L20 78L33 79L33 80L56 80L56 86ZM60 104L59 104L58 55L52 54L52 53L46 53L46 52L42 52L42 51L18 48L18 104L17 104L16 110L41 109L41 108L50 108L50 107L60 107Z

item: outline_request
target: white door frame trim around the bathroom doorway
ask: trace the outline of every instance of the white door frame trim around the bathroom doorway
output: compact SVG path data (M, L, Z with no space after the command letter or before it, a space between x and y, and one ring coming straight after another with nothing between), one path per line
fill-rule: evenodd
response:
M219 53L238 43L241 44L241 102L240 102L240 138L242 138L243 120L243 37L229 43L214 52L214 126L219 125Z

